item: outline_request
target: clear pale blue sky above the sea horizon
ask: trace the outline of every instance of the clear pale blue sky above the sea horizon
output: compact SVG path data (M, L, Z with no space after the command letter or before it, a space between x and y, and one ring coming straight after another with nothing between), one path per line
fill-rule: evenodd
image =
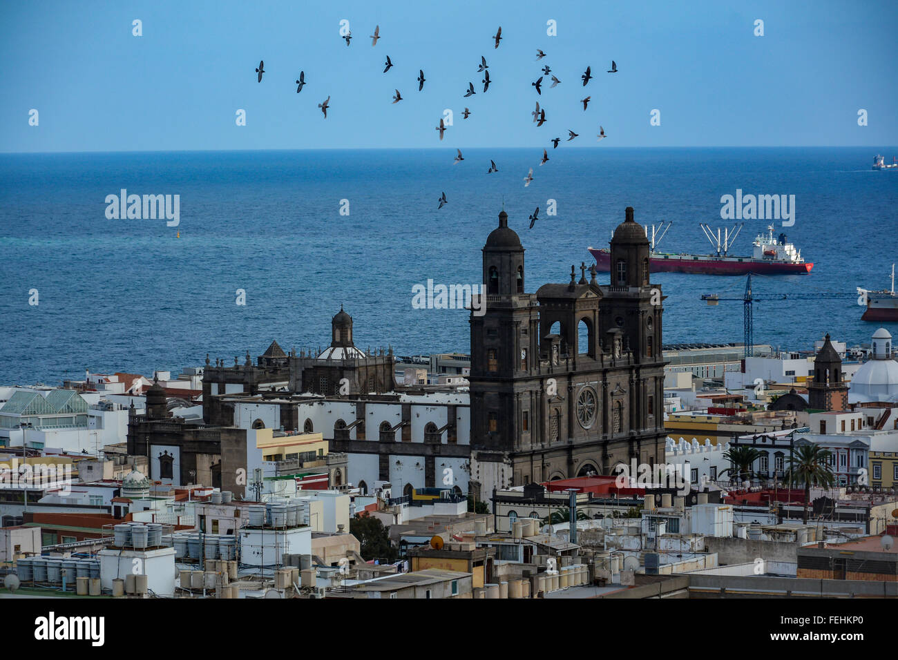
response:
M550 19L558 36L547 36ZM382 39L372 48L375 24ZM885 148L898 144L896 33L891 1L7 2L0 151L463 149L547 145L568 129L581 135L571 146L595 147L600 124L609 135L600 148ZM540 63L536 48L547 53ZM383 74L387 55L394 67ZM605 73L612 59L617 75ZM562 83L537 96L531 83L544 64ZM595 79L584 89L587 65ZM297 94L300 70L307 85ZM478 93L463 99L469 81ZM393 105L396 88L404 101ZM325 120L317 105L329 95ZM547 109L542 128L535 101ZM446 108L455 121L441 143L434 128ZM235 125L238 109L245 127ZM660 126L649 124L654 109Z

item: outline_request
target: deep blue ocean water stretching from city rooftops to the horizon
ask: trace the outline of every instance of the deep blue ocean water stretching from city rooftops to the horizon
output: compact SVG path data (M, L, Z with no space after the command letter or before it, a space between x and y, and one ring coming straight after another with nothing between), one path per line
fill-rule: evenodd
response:
M891 161L898 149L881 152ZM231 364L272 339L326 346L340 304L360 348L467 352L466 312L413 309L412 286L480 282L480 249L503 204L535 291L567 282L572 264L588 267L586 247L606 246L627 206L642 224L674 221L665 251L710 251L698 224L731 225L720 197L736 189L794 194L795 226L776 232L814 262L810 276L757 278L755 295L845 294L756 304L755 341L802 349L824 332L858 343L876 330L853 294L887 287L898 261L898 172L872 171L867 148L562 143L544 166L533 149L463 154L458 165L453 149L0 155L0 383L57 383L85 368L179 371L207 353ZM488 175L490 159L498 172ZM180 195L180 225L107 219L104 200L120 189ZM443 191L449 203L437 210ZM557 216L545 215L549 199ZM745 221L734 252L750 253L767 224ZM742 295L744 277L652 279L668 296L665 343L743 339L743 305L700 295Z

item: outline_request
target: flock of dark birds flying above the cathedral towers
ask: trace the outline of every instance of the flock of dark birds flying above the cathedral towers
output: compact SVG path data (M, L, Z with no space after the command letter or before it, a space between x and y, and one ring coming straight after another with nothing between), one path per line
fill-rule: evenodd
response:
M347 30L346 34L343 35L341 37L341 39L345 40L346 45L349 46L350 41L352 40L352 31ZM370 35L369 39L371 39L372 47L377 45L377 41L381 39L380 25L374 26L374 34ZM496 31L496 34L494 34L492 36L492 40L494 42L493 48L498 48L499 42L502 40L502 27L501 26L499 26L498 30ZM543 57L546 57L546 53L543 52L541 49L537 48L536 61L540 61ZM388 71L390 71L390 69L393 67L393 63L392 63L392 60L390 59L390 56L388 55L388 56L386 56L386 58L387 58L386 62L383 65L383 73L384 74L387 73ZM480 66L478 66L477 72L483 74L483 78L480 80L480 83L483 84L483 92L482 93L486 93L489 90L489 84L492 81L489 78L489 64L487 63L487 58L483 57L482 55L480 56ZM259 67L256 68L256 74L258 75L257 80L259 83L262 82L262 75L264 73L265 73L265 62L264 62L264 60L262 60L259 63ZM550 66L548 66L548 65L542 66L541 73L542 73L542 75L539 78L537 78L535 82L531 83L531 86L533 87L533 89L536 90L536 93L539 96L542 95L542 81L547 75L550 76L550 81L551 81L551 84L549 85L549 89L553 89L553 88L557 87L559 84L561 84L561 81L559 80L559 78L556 75L552 74ZM609 73L609 74L618 73L617 63L614 60L612 60L612 67L610 69L608 69L607 73ZM592 75L592 67L586 66L585 72L583 73L583 75L580 76L580 79L583 82L583 86L585 87L587 84L589 84L589 81L592 80L593 78L594 78L594 75ZM418 92L421 92L424 89L425 82L427 82L427 79L424 77L423 69L418 69L418 79L417 80L418 80ZM299 79L296 80L295 84L296 84L296 93L298 94L299 92L302 92L303 87L306 84L304 71L299 72ZM403 100L400 91L397 89L397 90L395 90L395 92L396 93L392 97L392 102L394 104ZM469 82L468 89L464 92L463 98L465 98L465 99L470 98L471 96L473 96L476 93L477 93L477 91L474 89L474 84ZM579 102L583 103L583 110L586 110L587 106L589 105L589 101L591 101L592 98L593 97L590 95L590 96L586 96L584 99L581 99L579 101ZM324 115L324 119L327 119L328 118L328 108L330 107L330 95L328 96L327 99L325 99L324 101L321 101L321 103L318 104L318 107L321 109L321 113ZM536 124L537 128L541 127L547 121L546 109L545 109L545 107L540 107L539 101L536 101L536 108L535 108L535 110L533 110L533 112L531 112L531 115L533 115L533 123ZM468 119L470 116L471 116L471 110L466 107L464 109L464 111L462 112L462 119ZM436 130L439 132L440 140L442 140L444 138L445 132L446 132L446 130L448 130L448 128L449 127L445 124L445 119L441 118L439 126L436 127ZM565 140L565 142L570 142L571 140L573 140L574 138L576 138L578 136L579 136L578 133L575 133L573 130L568 129L568 139ZM596 137L598 137L598 141L601 141L606 137L605 129L602 126L599 126L599 133ZM557 149L560 141L561 141L560 137L550 138L550 143L552 144L552 148ZM457 165L458 163L461 163L464 160L464 156L462 155L462 150L456 149L456 152L457 152L457 154L453 161L453 165ZM541 161L539 164L543 165L545 163L548 163L549 160L550 159L549 159L548 148L543 149L542 150L542 158L541 158ZM493 172L498 172L498 168L496 166L496 162L490 160L489 161L489 170L487 171L487 173L492 174ZM533 181L533 168L532 167L530 168L530 171L527 172L527 176L524 177L524 188L529 186L531 181ZM448 200L446 199L445 191L443 191L443 193L440 195L438 202L439 202L439 206L437 208L443 208L446 204L449 203ZM540 207L536 207L536 210L533 211L533 214L531 214L531 216L528 218L530 220L530 228L531 229L533 229L533 225L536 224L536 221L539 218L539 214L540 214Z

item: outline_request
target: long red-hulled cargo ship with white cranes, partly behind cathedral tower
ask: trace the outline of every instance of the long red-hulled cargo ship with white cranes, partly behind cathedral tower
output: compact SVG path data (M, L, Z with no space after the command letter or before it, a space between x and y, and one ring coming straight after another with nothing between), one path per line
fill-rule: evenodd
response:
M708 224L700 224L705 236L715 248L714 254L671 254L657 251L657 244L664 237L673 223L664 228L664 223L657 227L651 225L652 237L649 241L649 265L653 273L700 273L703 275L746 275L761 273L763 275L807 275L814 264L801 258L801 251L786 240L786 234L773 235L773 225L767 227L768 233L760 233L754 239L754 251L751 256L735 257L728 254L730 246L742 230L742 224L733 225L724 230L721 236ZM664 231L661 231L664 228ZM648 237L648 227L646 227ZM607 248L588 248L595 258L596 268L600 272L611 270L611 251Z

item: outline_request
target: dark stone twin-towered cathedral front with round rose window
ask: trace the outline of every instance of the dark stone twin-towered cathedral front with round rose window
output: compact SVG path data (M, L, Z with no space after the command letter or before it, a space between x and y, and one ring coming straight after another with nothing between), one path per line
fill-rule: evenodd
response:
M612 281L526 293L505 211L483 247L486 312L471 313L471 490L616 474L665 460L663 300L632 207L611 242Z

